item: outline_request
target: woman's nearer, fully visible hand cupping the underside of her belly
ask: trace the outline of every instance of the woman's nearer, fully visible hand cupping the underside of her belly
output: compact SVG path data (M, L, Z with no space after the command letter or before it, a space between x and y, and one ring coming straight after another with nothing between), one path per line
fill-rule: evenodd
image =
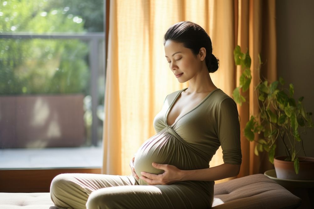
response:
M147 172L141 172L141 179L146 181L149 185L169 185L176 183L182 179L182 170L174 165L152 163L154 168L165 170L164 173L156 175Z

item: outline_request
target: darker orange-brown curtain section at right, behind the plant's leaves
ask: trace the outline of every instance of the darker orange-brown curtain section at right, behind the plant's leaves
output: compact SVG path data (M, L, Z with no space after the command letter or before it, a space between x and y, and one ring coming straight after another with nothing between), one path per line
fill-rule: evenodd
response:
M264 78L272 82L277 79L276 70L276 27L275 27L275 1L274 0L239 0L235 7L235 17L237 33L235 34L237 45L241 50L249 50L252 64L252 81L249 91L244 93L248 103L238 106L241 124L241 149L242 165L239 177L263 173L272 169L273 165L268 161L266 152L256 156L254 154L255 143L249 143L244 137L243 129L249 121L250 115L258 114L258 99L254 93L253 86L257 86L259 75L257 67L259 65L258 54L261 55L263 65L261 73ZM236 69L236 78L239 82L241 68ZM237 85L239 85L237 83ZM256 139L258 135L255 136Z

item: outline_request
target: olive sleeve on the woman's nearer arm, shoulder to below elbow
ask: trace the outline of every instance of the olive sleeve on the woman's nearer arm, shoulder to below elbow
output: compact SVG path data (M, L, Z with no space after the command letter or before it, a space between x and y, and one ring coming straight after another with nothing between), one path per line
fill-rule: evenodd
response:
M224 163L241 164L240 123L236 102L224 99L217 116L217 133Z

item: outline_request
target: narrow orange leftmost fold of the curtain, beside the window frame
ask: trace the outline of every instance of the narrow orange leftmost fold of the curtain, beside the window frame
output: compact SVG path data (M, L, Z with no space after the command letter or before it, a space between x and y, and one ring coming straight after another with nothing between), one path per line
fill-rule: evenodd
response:
M106 71L105 120L103 132L102 173L121 173L121 108L118 74L117 9L116 1L110 2L110 31L108 34L108 53ZM109 140L110 139L110 140ZM118 165L118 166L117 166Z

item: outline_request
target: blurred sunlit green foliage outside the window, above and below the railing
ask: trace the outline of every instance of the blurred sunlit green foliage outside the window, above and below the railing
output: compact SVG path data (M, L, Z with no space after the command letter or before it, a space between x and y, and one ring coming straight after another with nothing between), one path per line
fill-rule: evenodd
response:
M82 0L0 1L0 33L101 31L103 28L90 23L93 18L103 23L103 9L96 2L102 4L99 0L95 4ZM79 8L88 4L93 6ZM98 8L95 14L102 13L102 17L88 16L93 7ZM0 95L86 95L88 53L88 43L76 39L0 39Z

